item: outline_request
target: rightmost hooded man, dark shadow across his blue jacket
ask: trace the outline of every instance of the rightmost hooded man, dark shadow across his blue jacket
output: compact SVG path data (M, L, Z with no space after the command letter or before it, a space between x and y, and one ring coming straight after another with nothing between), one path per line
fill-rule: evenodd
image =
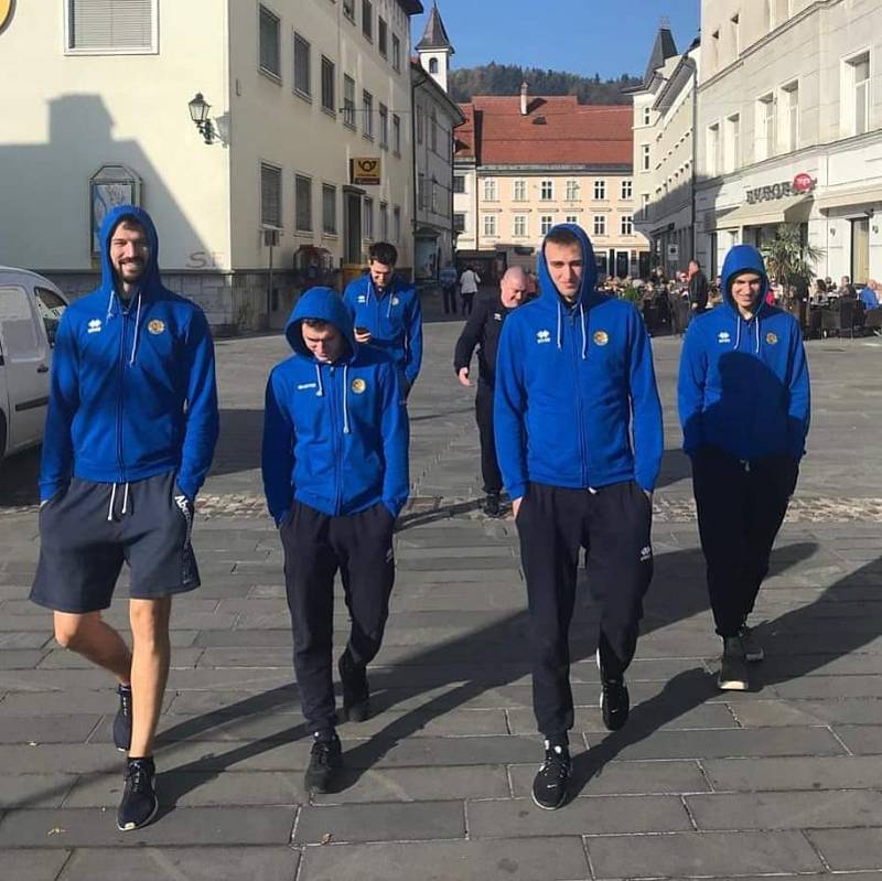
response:
M721 273L723 304L689 325L678 399L692 460L701 548L717 633L719 685L749 687L763 649L747 626L805 452L808 367L796 319L765 302L763 258L736 245Z

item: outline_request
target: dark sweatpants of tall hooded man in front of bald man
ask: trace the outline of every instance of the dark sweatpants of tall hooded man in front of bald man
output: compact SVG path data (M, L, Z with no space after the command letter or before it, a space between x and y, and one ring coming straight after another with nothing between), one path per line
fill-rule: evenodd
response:
M530 483L517 530L533 631L533 708L542 734L563 738L573 726L569 632L580 550L588 550L601 610L601 660L617 678L634 657L653 577L652 506L634 481L598 490Z

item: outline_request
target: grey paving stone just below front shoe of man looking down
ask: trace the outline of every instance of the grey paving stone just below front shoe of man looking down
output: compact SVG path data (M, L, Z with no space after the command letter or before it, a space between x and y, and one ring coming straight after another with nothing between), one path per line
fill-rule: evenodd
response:
M411 802L301 808L293 838L297 844L316 845L329 835L330 840L340 842L462 838L465 835L463 804Z

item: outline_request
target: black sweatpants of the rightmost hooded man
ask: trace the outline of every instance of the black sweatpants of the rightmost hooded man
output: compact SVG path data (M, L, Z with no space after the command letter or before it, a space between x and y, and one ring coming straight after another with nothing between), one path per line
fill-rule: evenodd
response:
M734 636L753 611L798 474L789 455L742 462L702 447L692 458L698 531L720 636Z

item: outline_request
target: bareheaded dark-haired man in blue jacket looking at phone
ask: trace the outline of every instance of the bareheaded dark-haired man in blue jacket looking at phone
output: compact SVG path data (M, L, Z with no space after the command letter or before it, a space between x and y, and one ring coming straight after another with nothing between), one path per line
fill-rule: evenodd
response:
M355 341L391 355L401 374L405 398L422 363L422 310L417 289L395 273L398 251L375 241L368 251L368 272L346 286L343 301L355 325Z

